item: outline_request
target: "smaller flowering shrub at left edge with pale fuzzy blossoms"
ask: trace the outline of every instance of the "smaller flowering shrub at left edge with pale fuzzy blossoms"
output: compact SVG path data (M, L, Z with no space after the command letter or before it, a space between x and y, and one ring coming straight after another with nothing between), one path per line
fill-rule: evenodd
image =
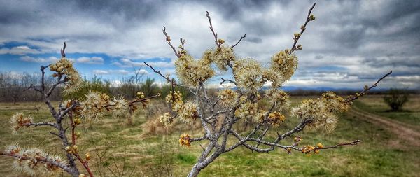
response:
M41 85L31 85L28 88L41 93L54 120L34 122L31 115L26 116L23 113L15 113L10 118L10 123L12 124L13 133L16 134L18 134L18 130L22 127L52 127L55 131L50 131L50 133L61 139L66 160L57 155L46 153L41 149L22 148L18 144L8 146L6 150L0 152L0 155L14 157L15 162L13 162L13 166L15 169L29 175L57 176L57 173L60 171L66 171L71 176L85 176L85 174L80 174L76 164L78 161L86 169L89 176L93 176L89 167L90 153L87 152L84 156L80 155L81 152L79 152L80 148L78 148L77 139L82 135L80 132L75 131L76 128L83 121L102 118L106 113L112 113L113 117L120 117L129 112L132 113L137 110L137 103L146 106L149 99L160 96L160 94L157 94L152 97L144 97L144 93L138 92L136 99L127 101L124 97L111 98L108 94L91 91L85 95L84 100L62 101L59 103L58 108L55 108L49 99L52 91L61 85L64 87L64 92L71 93L78 90L81 82L78 71L73 68L72 62L66 59L64 54L65 48L66 43L64 43L62 58L59 61L48 66L41 66ZM57 78L56 83L49 89L44 85L45 69L47 68L53 72L52 76ZM69 120L71 124L71 131L69 133L63 127L63 121L65 120Z

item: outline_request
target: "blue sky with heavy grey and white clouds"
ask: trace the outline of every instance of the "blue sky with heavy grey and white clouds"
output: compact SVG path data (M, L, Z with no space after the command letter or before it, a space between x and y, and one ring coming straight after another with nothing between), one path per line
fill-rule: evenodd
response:
M209 11L220 38L235 52L263 63L290 48L307 10L316 2L295 76L298 87L363 87L393 70L381 87L420 88L420 1L0 1L0 71L36 72L67 57L80 73L119 80L145 69L146 61L174 73L176 57L165 42L186 38L200 57L214 41ZM173 40L176 43L178 40ZM177 45L177 44L176 44ZM221 73L210 81L220 82Z

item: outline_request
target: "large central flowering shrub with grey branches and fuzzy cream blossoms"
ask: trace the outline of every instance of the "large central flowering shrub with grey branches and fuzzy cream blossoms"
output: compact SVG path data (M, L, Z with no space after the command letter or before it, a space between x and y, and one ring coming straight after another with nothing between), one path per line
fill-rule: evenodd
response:
M214 162L221 154L228 153L239 146L259 153L267 153L275 148L280 148L286 150L286 153L296 150L311 155L319 153L320 150L356 145L360 142L360 140L356 140L349 143L338 143L334 146L323 146L322 143L318 143L316 146L300 146L302 139L300 136L295 136L292 144L280 143L281 140L301 132L304 128L332 132L337 126L335 113L348 111L353 100L363 96L372 87L376 87L380 80L391 74L386 74L371 87L365 86L363 92L355 95L340 97L334 92L325 92L321 98L307 99L290 108L289 95L281 90L281 86L293 76L297 69L298 60L295 52L302 50L302 45L297 42L306 30L307 24L315 20L314 15L311 14L314 6L310 8L306 21L300 27L300 32L293 35L292 47L274 54L267 67L262 66L256 59L237 57L234 48L241 39L246 37L246 34L235 45L226 44L223 39L218 38L214 31L209 13L207 13L207 18L210 30L214 35L216 48L204 51L200 59L195 59L188 53L185 48L186 40L183 38L180 40L181 44L178 50L174 48L164 27L163 34L165 34L166 41L178 57L175 69L180 83L176 83L175 79L168 75L162 75L160 71L156 71L146 62L145 64L172 83L172 92L169 92L166 97L172 112L162 115L160 122L166 126L173 125L176 120L185 124L201 122L204 135L182 134L179 139L179 143L187 147L193 146L196 141L206 141L200 143L203 152L188 176L197 176L202 169ZM232 80L222 78L221 84L228 82L235 87L220 90L217 97L209 97L205 83L218 73L217 69L221 72L231 72ZM268 89L262 90L264 85L269 85ZM184 102L182 94L176 91L178 88L187 88L195 99ZM267 110L260 108L258 104L261 101L269 101L270 108ZM265 136L272 127L278 127L282 122L287 121L286 115L300 120L299 124L283 134L277 133L278 136L274 140L266 139ZM255 127L248 132L239 132L233 125L241 121L253 121Z

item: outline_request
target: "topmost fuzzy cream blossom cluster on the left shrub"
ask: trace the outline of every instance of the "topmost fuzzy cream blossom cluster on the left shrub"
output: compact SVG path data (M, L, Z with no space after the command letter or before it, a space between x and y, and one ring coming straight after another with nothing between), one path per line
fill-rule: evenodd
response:
M54 64L50 64L50 71L56 72L52 74L53 77L64 76L64 80L66 80L64 83L64 91L66 92L77 90L82 83L82 79L80 78L78 71L74 69L73 63L65 57L62 57Z

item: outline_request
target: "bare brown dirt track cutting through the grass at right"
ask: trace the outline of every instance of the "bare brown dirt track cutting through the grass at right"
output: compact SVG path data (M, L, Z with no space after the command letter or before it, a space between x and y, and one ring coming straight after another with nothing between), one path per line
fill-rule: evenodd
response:
M355 107L351 109L350 113L356 115L357 118L367 120L368 122L371 122L372 124L379 127L384 127L386 130L397 135L398 138L402 141L407 141L407 143L413 146L420 147L420 129L415 125L407 125L396 120L391 120L379 115L367 113L366 111L362 111Z

